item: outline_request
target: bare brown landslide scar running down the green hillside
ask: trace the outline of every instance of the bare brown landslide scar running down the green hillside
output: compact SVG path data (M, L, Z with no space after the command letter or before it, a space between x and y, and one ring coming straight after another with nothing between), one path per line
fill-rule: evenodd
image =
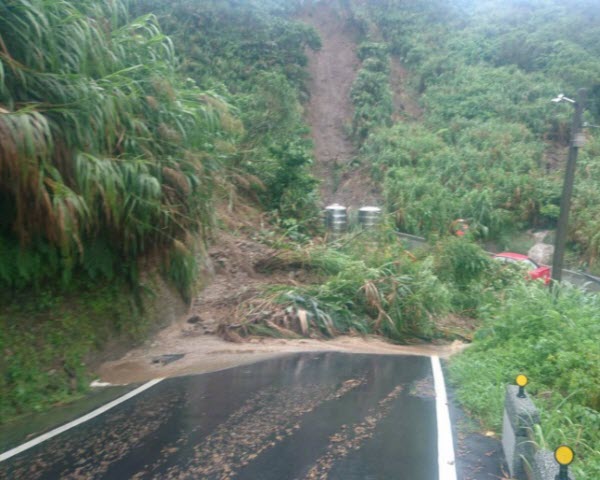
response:
M345 133L352 124L350 90L360 68L356 41L338 2L319 2L301 20L319 32L323 47L309 52L311 75L307 119L312 127L321 198L328 205L361 207L380 202L379 187L368 166L353 167L356 149Z

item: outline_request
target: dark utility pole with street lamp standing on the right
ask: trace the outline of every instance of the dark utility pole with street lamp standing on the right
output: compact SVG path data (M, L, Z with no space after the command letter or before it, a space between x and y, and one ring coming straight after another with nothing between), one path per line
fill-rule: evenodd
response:
M577 162L579 147L583 146L581 119L585 107L586 96L587 91L582 88L577 92L577 100L574 102L575 113L573 114L573 124L571 125L569 158L567 160L563 193L560 199L560 215L558 217L558 225L556 228L556 241L554 242L554 258L552 260L552 280L554 280L554 282L560 282L562 280L562 267L565 256L565 246L567 244L569 210L571 208L571 196L573 194L573 183L575 180L575 164Z

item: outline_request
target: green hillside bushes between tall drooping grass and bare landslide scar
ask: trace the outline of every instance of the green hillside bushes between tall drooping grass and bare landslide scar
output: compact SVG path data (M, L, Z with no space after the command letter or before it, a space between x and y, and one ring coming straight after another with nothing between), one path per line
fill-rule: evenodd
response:
M314 226L316 180L310 176L301 100L305 50L320 48L314 29L289 19L295 2L160 0L155 12L183 57L182 68L235 106L243 131L231 142L231 181L257 195L282 220Z

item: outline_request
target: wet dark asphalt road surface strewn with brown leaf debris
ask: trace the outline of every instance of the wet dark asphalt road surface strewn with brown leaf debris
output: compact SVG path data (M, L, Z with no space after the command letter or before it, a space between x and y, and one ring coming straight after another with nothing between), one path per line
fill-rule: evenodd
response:
M456 478L436 357L302 353L146 385L5 452L0 478Z

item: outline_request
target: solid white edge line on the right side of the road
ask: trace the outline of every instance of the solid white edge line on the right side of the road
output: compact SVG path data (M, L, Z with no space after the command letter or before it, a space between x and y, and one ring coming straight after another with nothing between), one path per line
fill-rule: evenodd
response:
M436 413L438 424L438 469L440 480L456 480L452 425L448 411L448 397L444 384L444 373L439 357L431 357L433 384L435 386Z

